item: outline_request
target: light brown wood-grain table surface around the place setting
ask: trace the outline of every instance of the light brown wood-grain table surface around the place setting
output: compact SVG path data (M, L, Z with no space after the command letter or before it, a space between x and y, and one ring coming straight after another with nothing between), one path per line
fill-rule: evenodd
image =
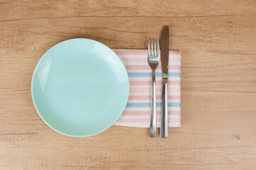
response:
M0 169L255 169L256 1L0 1ZM147 49L169 26L182 51L182 126L60 135L30 96L52 45L91 38Z

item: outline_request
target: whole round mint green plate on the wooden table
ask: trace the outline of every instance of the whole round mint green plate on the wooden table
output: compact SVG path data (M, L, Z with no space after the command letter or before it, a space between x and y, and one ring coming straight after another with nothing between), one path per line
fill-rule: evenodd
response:
M109 128L123 113L129 79L115 52L101 42L60 42L41 57L32 77L36 111L53 130L88 137Z

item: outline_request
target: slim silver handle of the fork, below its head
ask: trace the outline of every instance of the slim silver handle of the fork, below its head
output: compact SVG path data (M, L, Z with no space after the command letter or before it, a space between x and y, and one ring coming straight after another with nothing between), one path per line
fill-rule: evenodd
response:
M157 112L155 101L155 70L152 69L152 90L150 107L150 137L157 137Z

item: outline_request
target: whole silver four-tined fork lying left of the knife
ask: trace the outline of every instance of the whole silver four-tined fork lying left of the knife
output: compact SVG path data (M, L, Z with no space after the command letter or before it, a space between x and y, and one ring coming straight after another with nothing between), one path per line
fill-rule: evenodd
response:
M157 112L155 100L155 69L160 62L159 38L155 38L155 49L153 47L154 38L148 41L148 64L152 69L152 91L151 91L151 107L150 107L150 137L157 137ZM150 48L151 44L151 48Z

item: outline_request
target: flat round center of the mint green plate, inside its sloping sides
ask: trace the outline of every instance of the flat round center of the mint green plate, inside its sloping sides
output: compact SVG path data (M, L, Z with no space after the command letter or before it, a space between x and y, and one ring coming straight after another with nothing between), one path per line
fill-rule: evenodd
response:
M109 65L94 54L72 55L55 63L51 86L46 87L48 100L62 117L87 121L104 113L115 95L116 79ZM108 90L106 90L108 89ZM57 112L56 112L57 113Z

